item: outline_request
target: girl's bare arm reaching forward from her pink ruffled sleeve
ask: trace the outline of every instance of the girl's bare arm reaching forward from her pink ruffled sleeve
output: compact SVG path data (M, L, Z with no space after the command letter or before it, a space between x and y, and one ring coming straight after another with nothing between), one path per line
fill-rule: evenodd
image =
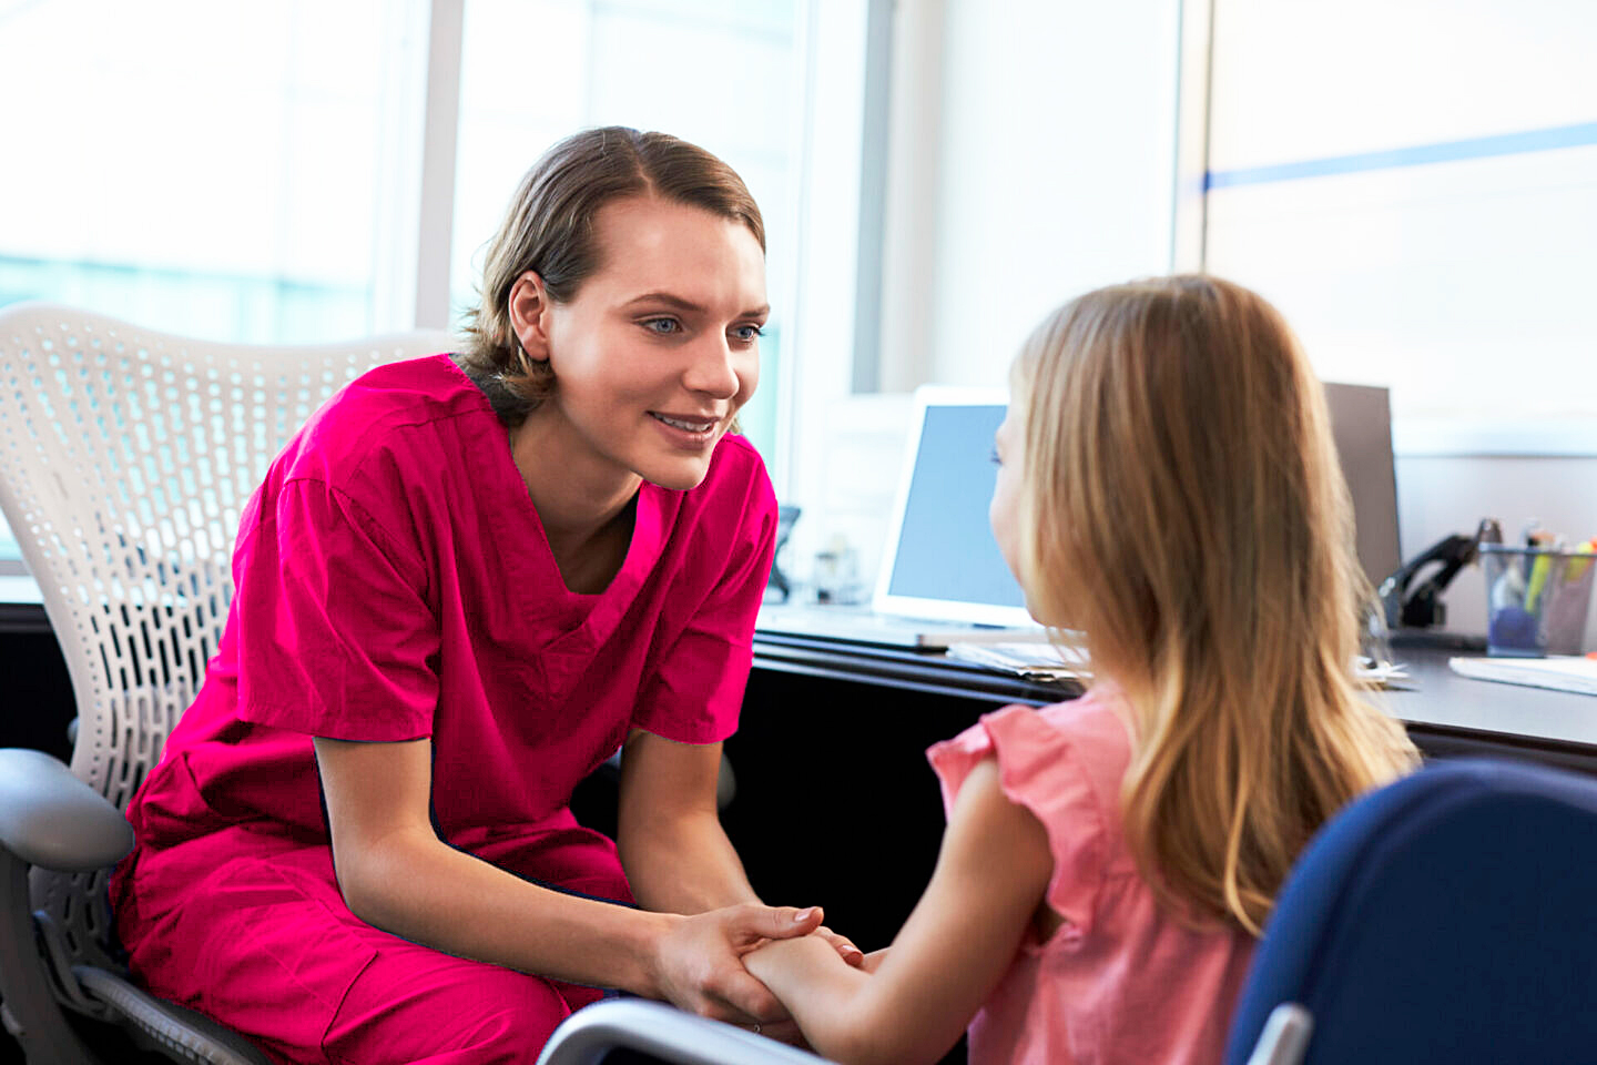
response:
M931 883L874 974L814 937L744 963L824 1057L936 1062L1009 968L1052 869L1043 824L1009 802L987 758L960 787Z

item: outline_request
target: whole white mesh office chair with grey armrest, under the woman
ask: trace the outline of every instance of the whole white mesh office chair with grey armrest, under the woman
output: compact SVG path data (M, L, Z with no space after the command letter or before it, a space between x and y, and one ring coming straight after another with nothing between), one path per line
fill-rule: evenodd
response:
M0 509L77 699L70 771L0 750L0 1014L30 1065L97 1060L77 1016L177 1060L267 1065L123 979L105 902L133 846L121 810L220 640L240 509L273 455L345 382L447 350L442 332L252 346L48 303L0 311Z

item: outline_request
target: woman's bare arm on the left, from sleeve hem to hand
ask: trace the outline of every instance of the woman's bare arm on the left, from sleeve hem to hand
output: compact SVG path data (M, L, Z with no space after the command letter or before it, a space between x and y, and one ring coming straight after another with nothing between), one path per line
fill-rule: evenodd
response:
M339 888L361 920L446 953L723 1020L786 1016L739 955L765 937L813 931L818 910L736 905L680 917L527 883L438 838L430 739L316 738L316 765Z

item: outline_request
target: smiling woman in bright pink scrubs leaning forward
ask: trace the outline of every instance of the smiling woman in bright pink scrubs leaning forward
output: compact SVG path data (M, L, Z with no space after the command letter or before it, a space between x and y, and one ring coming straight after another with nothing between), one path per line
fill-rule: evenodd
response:
M530 1062L596 988L787 1023L741 955L819 913L759 902L714 802L776 527L728 433L767 313L715 156L610 128L533 166L466 350L340 391L244 511L128 810L139 980L283 1062ZM623 744L612 843L567 803Z

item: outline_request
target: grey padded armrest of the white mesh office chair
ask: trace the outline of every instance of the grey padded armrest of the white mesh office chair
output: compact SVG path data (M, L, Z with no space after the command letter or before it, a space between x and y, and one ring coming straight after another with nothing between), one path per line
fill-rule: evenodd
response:
M30 865L86 873L133 849L133 825L43 750L0 749L0 845Z

